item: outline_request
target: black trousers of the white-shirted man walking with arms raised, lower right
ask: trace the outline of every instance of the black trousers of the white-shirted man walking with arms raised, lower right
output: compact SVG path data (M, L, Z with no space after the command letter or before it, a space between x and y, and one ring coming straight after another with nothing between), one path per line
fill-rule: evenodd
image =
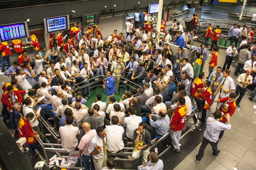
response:
M210 145L212 146L212 154L213 155L218 155L218 142L211 142L209 140L207 140L206 138L203 138L202 144L199 148L199 152L196 155L196 160L201 160L204 157L204 150L206 148L206 146L210 143Z

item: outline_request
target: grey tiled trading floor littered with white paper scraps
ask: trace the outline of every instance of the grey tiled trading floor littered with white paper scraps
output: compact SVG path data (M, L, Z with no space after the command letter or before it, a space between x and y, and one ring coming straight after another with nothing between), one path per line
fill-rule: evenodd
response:
M193 42L193 45L200 46L200 43ZM208 53L210 54L212 52L208 51ZM218 66L222 67L225 61L226 49L220 49L218 53ZM32 56L29 57L32 58ZM230 76L233 78L235 85L238 77L238 75L234 75L236 62L238 60L237 57L238 56L234 57L234 61L230 67ZM207 61L209 60L210 58L208 57ZM206 62L204 65L204 72L205 75L208 75L208 64ZM10 81L10 78L4 74L0 75L0 79L0 83L2 84ZM240 107L236 107L236 111L230 119L232 125L231 130L226 130L224 136L219 139L218 149L221 151L220 155L213 157L212 148L210 145L208 145L204 152L204 158L198 163L195 162L195 157L201 145L203 132L206 127L205 123L200 121L198 126L195 126L195 129L192 129L180 139L180 152L172 152L171 150L168 150L160 156L160 159L162 159L164 162L164 170L256 169L256 107L254 108L255 100L251 102L248 99L251 93L252 91L248 90L240 103ZM94 100L94 98L92 97L91 100ZM195 105L195 101L193 101L193 105ZM0 107L2 108L2 105ZM214 103L211 109L207 111L207 117L211 117L212 112L214 112L215 109L216 103ZM199 117L201 117L201 115ZM5 124L8 128L10 127L10 123L5 122ZM184 133L184 131L187 129L189 128L184 128L182 133ZM18 133L14 136L14 139L18 139ZM165 148L167 145L170 145L170 142L168 140L164 140L158 147ZM159 148L158 150L163 150L163 148ZM41 156L37 157L36 159L29 158L28 153L25 154L25 157L32 166L34 166L37 161L40 161L44 157L42 148L39 147L39 151L41 152ZM134 161L116 161L116 169L128 169L128 167L131 167L129 169L135 169L134 166L129 166L132 164L134 165L134 163ZM49 168L44 166L43 169Z

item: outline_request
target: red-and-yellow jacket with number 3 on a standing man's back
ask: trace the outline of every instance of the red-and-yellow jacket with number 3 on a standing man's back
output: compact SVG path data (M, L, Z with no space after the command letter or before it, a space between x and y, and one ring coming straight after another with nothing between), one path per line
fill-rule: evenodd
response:
M186 104L179 106L172 114L172 120L170 126L174 131L181 131L186 124L186 115L188 113L188 107Z

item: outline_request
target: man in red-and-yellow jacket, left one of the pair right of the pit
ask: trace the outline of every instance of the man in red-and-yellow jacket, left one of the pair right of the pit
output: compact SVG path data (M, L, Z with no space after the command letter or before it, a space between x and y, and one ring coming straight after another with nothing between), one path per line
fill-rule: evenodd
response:
M198 98L198 89L204 89L204 83L202 81L202 79L204 79L204 72L200 72L198 74L198 77L195 78L195 80L193 81L191 88L190 88L190 93L191 96L195 97L195 99Z

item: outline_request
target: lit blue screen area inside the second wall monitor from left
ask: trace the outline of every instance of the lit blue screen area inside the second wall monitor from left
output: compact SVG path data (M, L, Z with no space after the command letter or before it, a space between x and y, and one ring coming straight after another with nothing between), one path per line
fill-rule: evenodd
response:
M46 19L48 32L67 29L66 17Z

